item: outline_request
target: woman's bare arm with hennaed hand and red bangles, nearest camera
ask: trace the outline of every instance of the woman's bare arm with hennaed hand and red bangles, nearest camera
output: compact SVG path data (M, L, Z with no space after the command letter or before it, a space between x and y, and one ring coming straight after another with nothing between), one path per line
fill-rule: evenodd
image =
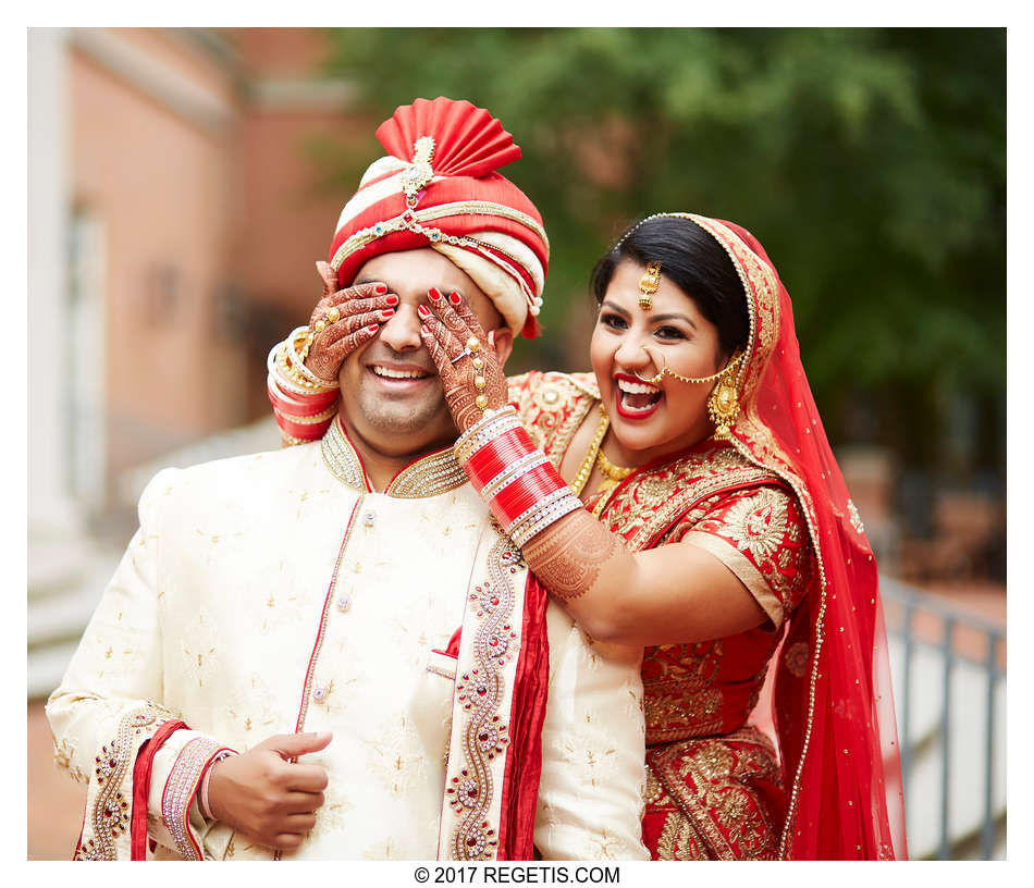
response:
M765 606L777 596L764 568L741 556L729 534L718 532L706 547L688 540L633 552L582 509L502 408L505 378L473 312L456 294L429 304L434 314L422 313L421 335L461 432L457 456L532 570L590 636L663 644L781 621L781 605Z

